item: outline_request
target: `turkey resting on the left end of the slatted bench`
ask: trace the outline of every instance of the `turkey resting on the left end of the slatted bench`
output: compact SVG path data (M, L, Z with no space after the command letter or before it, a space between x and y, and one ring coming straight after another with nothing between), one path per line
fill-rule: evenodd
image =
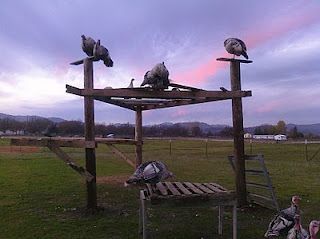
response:
M160 161L148 161L141 164L132 176L126 181L127 184L151 183L156 184L162 180L173 177L167 166Z

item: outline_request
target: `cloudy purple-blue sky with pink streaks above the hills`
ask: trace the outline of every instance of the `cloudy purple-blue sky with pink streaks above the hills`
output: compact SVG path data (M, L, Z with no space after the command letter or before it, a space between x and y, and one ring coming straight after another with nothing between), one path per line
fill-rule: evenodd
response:
M252 64L241 65L244 125L320 123L319 0L2 0L0 112L83 120L81 35L100 39L113 68L94 63L94 87L138 87L165 62L172 82L230 89L232 57L223 42L242 39ZM95 119L133 123L133 111L95 102ZM143 124L201 121L232 125L231 101L146 111Z

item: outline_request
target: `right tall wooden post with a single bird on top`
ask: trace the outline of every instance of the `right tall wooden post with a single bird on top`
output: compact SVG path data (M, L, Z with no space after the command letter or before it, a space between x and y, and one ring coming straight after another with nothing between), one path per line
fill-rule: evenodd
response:
M240 80L240 62L237 60L230 61L230 80L231 90L241 90ZM246 175L245 175L245 159L244 159L244 132L243 132L243 114L242 99L232 99L232 121L233 121L233 143L234 158L236 169L236 193L238 205L247 204Z

